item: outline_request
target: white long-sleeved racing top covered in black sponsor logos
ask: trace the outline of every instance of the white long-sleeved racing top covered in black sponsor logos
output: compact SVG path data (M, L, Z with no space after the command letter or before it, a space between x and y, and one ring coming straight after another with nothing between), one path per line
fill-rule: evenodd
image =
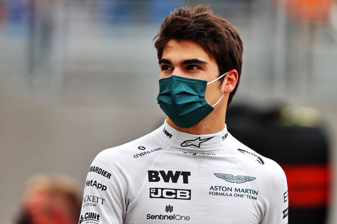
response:
M225 127L211 135L165 123L100 152L85 183L79 223L288 223L281 167Z

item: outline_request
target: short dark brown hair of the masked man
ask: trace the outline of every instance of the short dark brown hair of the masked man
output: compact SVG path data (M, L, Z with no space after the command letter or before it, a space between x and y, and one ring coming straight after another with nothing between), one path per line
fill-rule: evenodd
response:
M227 106L231 103L239 85L243 53L241 37L231 23L214 15L209 6L180 7L164 19L154 40L159 60L168 41L189 40L200 45L216 61L219 76L236 69L238 83L229 94ZM223 80L224 77L220 85Z

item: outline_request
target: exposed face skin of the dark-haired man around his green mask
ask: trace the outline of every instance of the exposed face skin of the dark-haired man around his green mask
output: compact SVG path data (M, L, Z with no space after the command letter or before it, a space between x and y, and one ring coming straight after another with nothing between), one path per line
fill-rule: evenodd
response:
M216 62L201 46L190 41L180 43L175 40L169 41L163 50L159 65L161 79L176 75L210 82L219 75ZM205 98L210 105L218 102L223 95L223 91L218 89L218 82L215 81L206 88Z

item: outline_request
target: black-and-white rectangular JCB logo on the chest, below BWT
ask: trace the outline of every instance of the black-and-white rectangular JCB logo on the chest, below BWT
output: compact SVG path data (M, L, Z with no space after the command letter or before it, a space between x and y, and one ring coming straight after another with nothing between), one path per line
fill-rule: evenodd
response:
M171 188L150 188L150 198L191 200L191 190Z

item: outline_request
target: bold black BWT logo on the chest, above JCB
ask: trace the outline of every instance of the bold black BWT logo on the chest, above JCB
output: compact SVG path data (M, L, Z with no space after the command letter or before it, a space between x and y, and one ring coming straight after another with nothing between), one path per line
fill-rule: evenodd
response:
M191 176L191 172L185 171L176 171L175 174L173 175L173 171L171 170L167 171L167 174L163 170L160 170L159 172L155 170L149 170L148 171L149 182L159 182L160 181L159 173L164 182L166 183L169 182L170 179L172 180L172 183L177 183L179 177L183 176L183 183L188 184L188 176Z

